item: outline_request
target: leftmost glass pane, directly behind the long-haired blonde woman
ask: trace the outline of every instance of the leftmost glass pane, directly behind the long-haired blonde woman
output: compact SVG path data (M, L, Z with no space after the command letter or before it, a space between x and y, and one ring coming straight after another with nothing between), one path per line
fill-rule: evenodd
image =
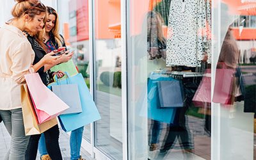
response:
M88 0L59 0L58 12L61 35L65 38L68 49L75 52L72 60L90 88ZM90 124L84 126L83 137L91 141Z

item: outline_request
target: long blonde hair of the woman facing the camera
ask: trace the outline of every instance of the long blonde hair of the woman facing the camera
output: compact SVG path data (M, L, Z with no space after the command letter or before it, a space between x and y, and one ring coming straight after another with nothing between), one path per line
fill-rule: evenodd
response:
M50 32L52 33L52 35L54 35L54 39L57 42L58 46L61 47L63 44L63 38L61 38L60 33L59 33L60 22L59 22L58 13L56 12L56 10L51 8L51 6L46 6L46 10L47 10L47 15L52 14L52 15L55 15L55 17L56 17L54 27L52 28L52 30Z

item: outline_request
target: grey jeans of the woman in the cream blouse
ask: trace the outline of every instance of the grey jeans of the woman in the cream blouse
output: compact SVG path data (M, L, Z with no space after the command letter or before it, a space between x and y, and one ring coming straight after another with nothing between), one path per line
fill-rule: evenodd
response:
M4 160L24 159L29 136L25 136L22 109L0 110L4 125L12 136L10 149Z

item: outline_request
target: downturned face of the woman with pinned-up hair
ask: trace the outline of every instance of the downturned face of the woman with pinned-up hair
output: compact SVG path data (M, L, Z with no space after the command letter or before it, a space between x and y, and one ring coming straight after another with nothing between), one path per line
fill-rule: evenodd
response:
M44 18L45 18L45 13L41 13L40 15L35 15L35 17L27 23L26 28L29 31L31 31L31 33L42 31L44 27Z

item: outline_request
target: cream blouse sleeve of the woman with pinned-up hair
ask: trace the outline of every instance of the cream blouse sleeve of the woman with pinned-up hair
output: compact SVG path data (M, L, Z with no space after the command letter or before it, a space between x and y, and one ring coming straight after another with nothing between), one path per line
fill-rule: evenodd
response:
M29 73L29 68L33 62L33 56L31 56L33 50L28 42L23 42L14 49L10 58L12 60L12 79L16 83L23 83L25 81L24 75Z

